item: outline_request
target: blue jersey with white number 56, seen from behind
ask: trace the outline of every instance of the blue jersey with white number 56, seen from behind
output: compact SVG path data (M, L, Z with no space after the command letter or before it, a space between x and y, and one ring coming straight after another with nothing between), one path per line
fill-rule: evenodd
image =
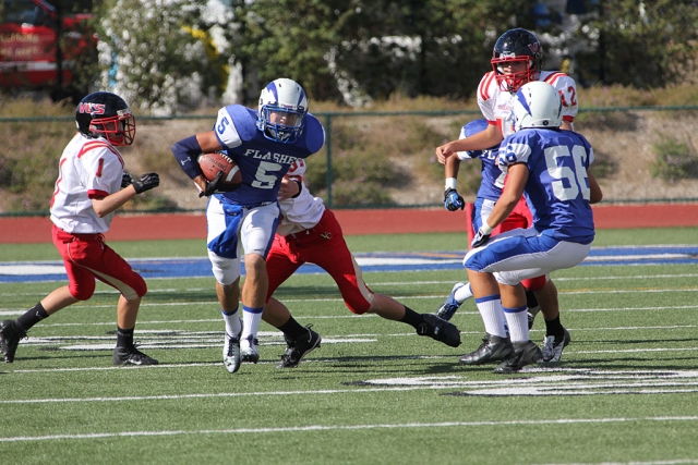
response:
M589 142L573 131L527 129L507 136L500 147L500 167L526 163L525 195L538 232L558 241L593 241L587 169L593 162Z

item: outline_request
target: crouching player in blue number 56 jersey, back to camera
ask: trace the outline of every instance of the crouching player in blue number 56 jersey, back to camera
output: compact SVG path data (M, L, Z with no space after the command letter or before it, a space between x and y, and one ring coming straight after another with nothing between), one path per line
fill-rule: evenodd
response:
M516 372L550 356L530 340L521 281L574 267L587 257L594 237L590 204L603 196L589 171L590 144L561 129L562 101L555 88L540 81L524 85L513 113L516 132L502 142L497 158L507 173L506 188L464 259L480 314L496 318L504 310L508 323L514 354L495 368L497 374ZM533 228L490 240L522 194ZM562 352L563 344L545 348Z

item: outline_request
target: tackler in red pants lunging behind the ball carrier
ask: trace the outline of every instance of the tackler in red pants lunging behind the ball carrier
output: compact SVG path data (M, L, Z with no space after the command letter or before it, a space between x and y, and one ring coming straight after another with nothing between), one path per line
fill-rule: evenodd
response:
M303 264L311 262L333 277L345 304L353 314L376 314L410 325L419 335L452 347L460 344L460 332L435 315L418 314L396 299L374 293L363 281L361 268L345 242L341 227L322 198L303 185L305 161L298 160L279 191L281 219L266 259L269 277L267 304L262 318L284 332L287 348L277 368L294 368L321 342L318 333L302 327L288 308L272 295Z

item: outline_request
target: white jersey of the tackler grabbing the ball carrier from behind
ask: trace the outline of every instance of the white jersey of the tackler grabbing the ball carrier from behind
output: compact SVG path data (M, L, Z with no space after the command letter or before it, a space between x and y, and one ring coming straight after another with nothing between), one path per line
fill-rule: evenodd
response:
M286 175L302 183L304 173L305 160L298 159L291 164ZM323 199L314 197L305 185L301 186L298 197L279 201L279 207L281 207L281 219L276 229L278 235L294 234L314 228L325 212Z

